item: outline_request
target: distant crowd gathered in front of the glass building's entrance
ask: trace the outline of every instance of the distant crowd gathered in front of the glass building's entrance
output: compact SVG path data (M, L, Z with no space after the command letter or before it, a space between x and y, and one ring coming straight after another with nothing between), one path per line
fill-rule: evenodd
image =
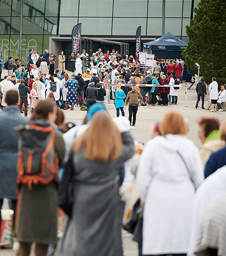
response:
M1 57L2 55L1 51ZM178 65L174 65L172 60L169 60L166 75L161 72L157 57L153 60L152 70L142 69L139 59L136 61L132 55L121 56L119 51L115 51L115 49L112 49L111 53L106 51L105 54L102 53L101 49L98 49L91 57L84 49L81 55L75 56L72 53L67 59L67 70L65 70L66 57L63 51L58 56L57 69L55 69L55 60L56 55L49 53L48 50L39 56L36 49L30 49L27 69L24 65L20 66L21 63L18 62L18 59L13 64L12 56L5 63L5 68L8 69L14 84L27 86L29 83L30 92L33 90L33 84L35 87L37 84L37 89L34 90L38 96L36 95L35 98L31 98L33 94L29 96L31 100L33 99L32 109L34 109L34 103L37 102L36 98L48 98L50 92L54 93L56 104L59 105L60 103L64 110L70 106L71 110L74 110L75 104L86 105L87 108L95 102L107 104L109 94L115 103L115 101L121 100L118 98L118 92L116 98L117 84L120 84L120 89L119 87L118 89L121 94L122 91L125 94L123 96L124 102L128 92L132 90L132 84L157 84L164 87L136 87L136 90L142 95L137 105L168 105L168 102L169 104L177 104L179 87L173 87L173 85L178 80L183 80L183 58L177 60ZM110 79L111 84L115 85L108 88L108 79ZM1 79L0 87L3 87L6 80L7 77ZM44 89L43 84L46 89ZM170 84L171 87L166 87L166 84ZM97 90L91 89L92 87L96 87ZM16 86L15 88L18 91L19 87ZM24 100L25 94L23 93L21 96ZM27 109L27 106L25 108ZM119 108L123 108L122 102ZM119 108L116 103L117 115L119 115ZM124 115L123 109L121 112Z

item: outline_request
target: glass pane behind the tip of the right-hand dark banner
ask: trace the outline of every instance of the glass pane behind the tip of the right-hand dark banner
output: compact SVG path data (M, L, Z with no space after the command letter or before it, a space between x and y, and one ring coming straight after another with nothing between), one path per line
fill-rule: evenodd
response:
M146 18L113 18L112 35L133 35L141 26L141 35L146 35Z

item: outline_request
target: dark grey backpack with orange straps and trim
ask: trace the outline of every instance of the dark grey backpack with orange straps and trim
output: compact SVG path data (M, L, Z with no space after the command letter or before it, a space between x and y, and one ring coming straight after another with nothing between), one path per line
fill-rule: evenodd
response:
M29 124L22 124L17 129L18 162L17 183L49 184L58 179L58 163L56 158L56 137L54 127L47 121L37 120Z

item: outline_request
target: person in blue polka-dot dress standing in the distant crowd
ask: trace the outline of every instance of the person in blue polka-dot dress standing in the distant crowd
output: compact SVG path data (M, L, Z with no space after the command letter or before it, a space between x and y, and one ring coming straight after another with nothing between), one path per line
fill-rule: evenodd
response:
M71 79L64 83L68 92L66 94L66 103L64 110L67 110L69 104L72 105L71 110L74 110L74 105L77 103L77 89L79 87L78 81L75 79L75 75L72 75Z

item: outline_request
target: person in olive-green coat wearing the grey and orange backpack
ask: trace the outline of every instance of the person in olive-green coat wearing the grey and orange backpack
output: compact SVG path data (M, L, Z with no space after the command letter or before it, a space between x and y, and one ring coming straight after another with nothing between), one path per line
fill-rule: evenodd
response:
M33 242L35 256L46 255L48 244L57 243L57 181L65 147L53 123L56 113L57 106L52 100L40 100L30 121L16 127L19 133L17 256L29 256Z

